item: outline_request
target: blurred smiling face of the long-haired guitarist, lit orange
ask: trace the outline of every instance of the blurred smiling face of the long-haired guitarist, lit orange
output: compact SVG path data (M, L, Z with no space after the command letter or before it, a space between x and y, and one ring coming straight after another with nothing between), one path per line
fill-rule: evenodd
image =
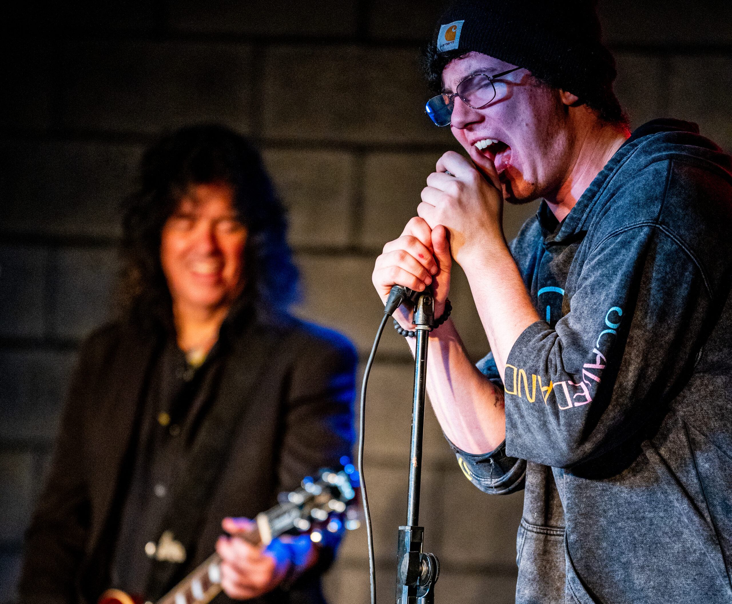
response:
M195 184L165 221L160 261L173 307L211 313L242 291L247 229L226 184Z

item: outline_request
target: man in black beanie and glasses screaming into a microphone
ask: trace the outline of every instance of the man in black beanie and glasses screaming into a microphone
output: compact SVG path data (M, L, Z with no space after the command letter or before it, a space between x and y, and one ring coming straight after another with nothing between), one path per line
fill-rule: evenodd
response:
M466 477L526 489L516 601L732 601L731 157L629 132L589 0L459 0L424 61L470 160L438 160L373 283L440 316L466 272L491 352L446 321L427 388ZM536 198L507 245L503 204Z

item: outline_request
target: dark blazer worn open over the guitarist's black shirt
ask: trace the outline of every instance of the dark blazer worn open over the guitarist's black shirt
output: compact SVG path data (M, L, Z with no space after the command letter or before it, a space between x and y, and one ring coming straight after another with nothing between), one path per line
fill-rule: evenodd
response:
M217 400L244 411L186 571L213 553L222 518L253 518L280 491L351 453L356 354L348 340L290 318L250 318L232 331ZM21 603L95 604L108 586L118 482L132 461L135 418L159 341L116 323L84 343L51 474L26 532ZM215 601L232 600L220 594ZM319 573L257 601L320 602Z

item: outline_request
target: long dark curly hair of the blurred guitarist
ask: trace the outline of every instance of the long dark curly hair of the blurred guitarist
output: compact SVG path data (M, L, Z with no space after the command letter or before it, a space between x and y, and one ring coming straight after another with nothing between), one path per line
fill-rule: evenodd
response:
M287 244L285 211L258 152L227 127L185 127L145 152L138 189L124 211L121 310L142 329L172 326L171 294L160 263L161 232L190 187L211 183L233 187L234 206L247 227L244 302L272 317L296 297L298 274Z

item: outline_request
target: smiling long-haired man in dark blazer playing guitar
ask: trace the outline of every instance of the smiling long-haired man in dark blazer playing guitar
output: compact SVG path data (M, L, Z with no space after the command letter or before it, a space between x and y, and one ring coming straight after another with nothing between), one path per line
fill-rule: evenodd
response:
M287 313L297 273L257 152L215 125L152 146L123 261L119 319L81 349L20 602L111 587L155 602L215 549L216 603L323 603L338 534L236 537L353 440L356 355Z

